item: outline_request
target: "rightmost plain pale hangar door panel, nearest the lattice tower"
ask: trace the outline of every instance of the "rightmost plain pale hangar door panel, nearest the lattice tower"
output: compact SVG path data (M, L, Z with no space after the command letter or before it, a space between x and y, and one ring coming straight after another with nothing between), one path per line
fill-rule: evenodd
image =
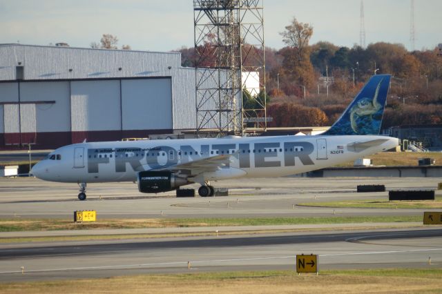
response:
M171 79L122 80L123 130L170 130Z

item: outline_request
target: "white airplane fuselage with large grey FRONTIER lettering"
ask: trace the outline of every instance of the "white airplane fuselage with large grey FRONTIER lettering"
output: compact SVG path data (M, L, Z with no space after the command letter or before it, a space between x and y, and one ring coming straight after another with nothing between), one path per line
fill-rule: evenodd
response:
M368 141L378 143L354 147ZM32 173L53 182L125 182L136 181L140 171L164 170L168 166L230 155L229 163L217 168L189 170L189 177L195 177L193 182L204 183L234 177L305 173L353 161L397 145L396 138L371 135L90 142L58 148L50 153L48 159L35 165ZM199 173L198 177L196 173Z

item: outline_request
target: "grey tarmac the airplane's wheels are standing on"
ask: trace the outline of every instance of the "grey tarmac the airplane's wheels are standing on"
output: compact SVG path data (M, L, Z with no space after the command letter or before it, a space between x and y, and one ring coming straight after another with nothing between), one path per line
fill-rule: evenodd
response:
M358 184L385 184L387 190L436 188L440 179L297 178L229 180L229 197L175 198L174 193L142 194L133 183L88 186L88 199L77 199L76 184L39 179L0 179L0 218L71 218L74 210L97 210L101 218L152 217L320 217L421 215L422 209L317 208L304 202L388 199L388 193L356 193ZM195 186L197 188L198 186ZM440 195L442 191L436 191Z

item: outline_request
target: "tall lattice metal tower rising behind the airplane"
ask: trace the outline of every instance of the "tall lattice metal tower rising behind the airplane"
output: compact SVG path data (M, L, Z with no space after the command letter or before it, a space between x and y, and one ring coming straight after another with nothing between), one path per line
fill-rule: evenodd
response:
M265 99L258 96L265 93L262 2L193 1L198 136L208 128L218 130L219 136L242 135L247 121L255 121L258 129L267 127ZM243 106L246 81L256 86L253 103Z

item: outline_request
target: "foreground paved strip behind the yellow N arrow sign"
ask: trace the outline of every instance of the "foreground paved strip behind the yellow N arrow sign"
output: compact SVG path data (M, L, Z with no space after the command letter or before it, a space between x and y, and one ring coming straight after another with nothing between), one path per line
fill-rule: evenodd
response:
M0 248L2 282L294 269L294 257L301 253L318 254L320 269L442 267L440 228L41 243ZM188 262L191 262L190 270Z

